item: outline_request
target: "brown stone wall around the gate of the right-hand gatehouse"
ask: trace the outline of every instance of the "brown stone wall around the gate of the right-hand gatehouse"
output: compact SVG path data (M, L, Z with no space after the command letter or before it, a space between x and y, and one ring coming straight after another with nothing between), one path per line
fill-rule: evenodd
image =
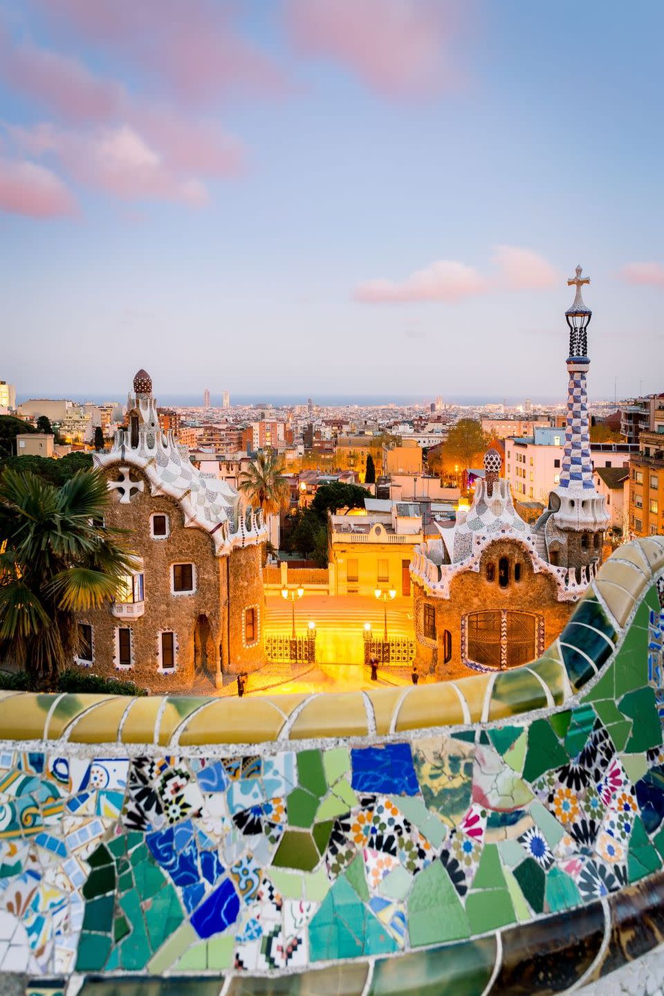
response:
M510 583L499 584L499 561L510 564ZM493 564L494 580L488 580L487 567ZM521 565L521 580L515 580L515 567ZM510 540L497 540L482 555L479 572L464 571L451 582L450 598L437 599L427 595L413 579L414 617L416 623L416 665L420 673L436 674L439 678L454 678L472 673L462 656L461 625L470 613L508 610L535 614L544 621L544 645L559 634L573 609L573 604L557 601L557 586L553 577L537 573L528 553ZM436 614L436 640L424 638L424 605L433 606ZM451 657L445 662L444 633L452 636ZM537 656L537 644L534 656Z

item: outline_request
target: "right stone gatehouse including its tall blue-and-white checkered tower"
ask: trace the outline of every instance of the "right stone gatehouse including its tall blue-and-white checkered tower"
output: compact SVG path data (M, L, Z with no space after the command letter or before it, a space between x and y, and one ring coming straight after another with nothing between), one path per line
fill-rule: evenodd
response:
M592 476L585 373L590 311L580 295L580 267L565 313L570 329L565 441L560 482L533 526L514 507L489 450L471 508L440 538L415 548L413 579L416 666L456 677L470 670L514 667L534 659L558 635L602 560L608 526L605 499Z

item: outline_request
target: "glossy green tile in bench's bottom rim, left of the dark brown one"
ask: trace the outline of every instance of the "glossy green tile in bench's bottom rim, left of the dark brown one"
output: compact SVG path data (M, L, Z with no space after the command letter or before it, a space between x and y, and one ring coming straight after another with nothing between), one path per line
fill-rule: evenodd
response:
M481 996L493 975L496 955L496 938L481 937L380 958L373 966L368 996Z

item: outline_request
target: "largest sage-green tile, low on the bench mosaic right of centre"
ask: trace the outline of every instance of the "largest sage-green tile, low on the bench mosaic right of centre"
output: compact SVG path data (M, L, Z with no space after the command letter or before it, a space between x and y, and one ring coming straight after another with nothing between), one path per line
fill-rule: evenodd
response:
M429 865L413 880L408 932L413 947L459 940L470 933L466 911L441 862Z

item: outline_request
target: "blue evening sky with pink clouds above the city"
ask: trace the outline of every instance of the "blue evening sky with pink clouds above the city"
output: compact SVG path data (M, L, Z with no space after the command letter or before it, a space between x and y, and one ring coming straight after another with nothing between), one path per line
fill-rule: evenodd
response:
M0 379L21 396L664 389L640 0L0 0Z

